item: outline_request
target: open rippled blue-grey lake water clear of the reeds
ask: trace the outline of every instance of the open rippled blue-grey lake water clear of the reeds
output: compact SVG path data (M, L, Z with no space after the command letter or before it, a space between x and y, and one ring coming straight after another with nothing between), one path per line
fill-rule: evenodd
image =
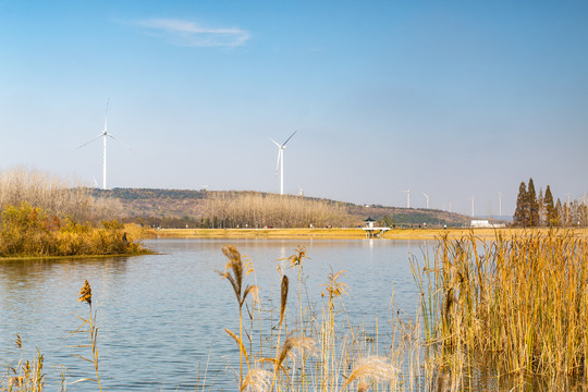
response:
M238 330L234 293L222 270L222 245L234 244L255 267L261 302L279 304L280 274L284 268L296 281L297 272L280 261L299 245L307 249L304 274L310 302L319 304L329 272L345 270L340 281L348 286L343 301L354 324L373 326L376 316L389 320L402 309L408 316L418 307L408 257L432 243L385 240L154 240L146 245L158 255L131 258L0 261L0 365L16 364L23 340L26 358L36 348L45 355L48 390L57 390L60 365L70 372L69 391L96 391L93 382L71 383L93 377L93 366L68 347L85 344L87 336L70 332L87 317L88 306L77 302L87 279L97 306L100 378L108 391L193 391L196 382L215 391L237 390L235 342L224 328ZM255 283L255 282L254 282ZM394 295L394 304L391 304ZM295 319L297 289L292 285L289 314ZM382 329L383 326L380 326ZM369 328L369 327L368 327ZM204 380L205 368L206 380ZM198 375L198 369L199 375Z

